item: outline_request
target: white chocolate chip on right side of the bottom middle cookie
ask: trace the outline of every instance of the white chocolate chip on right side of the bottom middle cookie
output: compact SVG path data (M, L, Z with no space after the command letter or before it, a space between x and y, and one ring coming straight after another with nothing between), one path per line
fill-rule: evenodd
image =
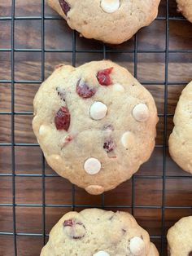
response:
M145 255L145 243L139 236L134 236L130 240L130 251L135 256Z

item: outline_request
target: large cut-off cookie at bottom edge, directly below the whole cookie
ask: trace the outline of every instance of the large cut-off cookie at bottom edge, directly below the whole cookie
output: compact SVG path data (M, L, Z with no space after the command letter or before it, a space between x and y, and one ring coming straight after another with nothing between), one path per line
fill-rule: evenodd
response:
M52 228L41 256L156 256L149 234L131 214L98 209L69 212Z

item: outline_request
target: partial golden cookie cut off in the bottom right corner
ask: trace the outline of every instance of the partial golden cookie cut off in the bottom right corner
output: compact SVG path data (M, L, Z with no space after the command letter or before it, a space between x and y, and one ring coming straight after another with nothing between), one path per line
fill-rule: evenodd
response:
M181 218L168 230L168 254L192 256L192 216Z

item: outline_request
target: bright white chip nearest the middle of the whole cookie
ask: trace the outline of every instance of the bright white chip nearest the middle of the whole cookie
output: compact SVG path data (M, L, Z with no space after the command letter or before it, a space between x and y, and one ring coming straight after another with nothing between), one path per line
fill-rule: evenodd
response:
M101 120L107 114L107 106L100 101L94 102L90 107L90 116L94 120Z

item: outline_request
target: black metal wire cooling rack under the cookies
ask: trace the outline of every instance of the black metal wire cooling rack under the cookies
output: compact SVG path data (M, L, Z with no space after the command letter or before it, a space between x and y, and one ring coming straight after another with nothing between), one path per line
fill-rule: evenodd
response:
M176 205L176 206L168 206L166 205L166 183L168 179L182 179L182 175L168 175L167 174L167 161L166 158L168 156L168 145L167 145L167 139L168 139L168 117L172 118L172 114L168 113L168 86L175 86L175 85L181 85L184 86L186 82L169 82L168 80L168 64L169 64L169 54L177 54L177 53L192 53L192 48L187 50L169 50L169 22L170 20L177 20L179 22L184 22L184 18L181 16L169 16L169 1L167 0L165 3L165 9L166 9L166 15L164 17L157 17L156 20L164 20L165 21L165 50L140 50L138 49L138 38L137 34L134 36L134 42L133 42L133 50L116 50L113 48L109 48L105 44L103 44L102 49L96 50L96 49L89 49L89 50L77 50L76 49L76 32L72 33L72 50L63 50L63 49L47 49L45 44L45 21L46 20L61 20L60 17L55 16L48 16L45 15L45 2L44 0L41 1L41 15L40 16L16 16L15 15L15 1L11 0L11 16L0 16L0 24L2 21L10 20L11 21L11 48L0 48L1 52L10 52L11 54L11 80L2 79L0 77L0 84L11 84L11 111L10 112L2 112L0 109L0 117L1 116L11 116L11 143L2 143L0 141L0 153L1 153L1 147L10 147L11 148L11 173L4 173L3 168L2 171L0 171L0 180L2 177L11 177L12 183L11 183L11 191L12 191L12 202L11 203L1 203L0 201L0 210L2 210L3 207L11 207L12 209L12 232L7 232L7 230L1 229L0 226L0 236L11 236L13 238L13 255L19 255L22 256L21 253L18 253L18 237L19 236L38 236L42 237L42 245L46 244L47 239L47 232L46 232L46 209L49 207L63 207L63 208L70 208L71 210L75 210L76 208L89 208L89 207L99 207L104 209L113 209L113 210L129 210L133 215L135 215L135 211L137 209L144 209L144 210L150 210L150 209L157 209L161 211L161 223L160 223L160 230L161 234L159 236L151 234L151 239L153 241L159 241L159 253L160 255L166 255L166 227L165 227L165 210L167 209L179 209L179 210L189 210L188 212L192 214L192 203L188 205ZM0 3L1 5L1 3ZM16 20L40 20L41 21L41 48L40 49L22 49L22 48L15 48L15 21ZM15 79L15 53L22 53L22 52L39 52L41 53L41 80L35 81L35 80L16 80ZM160 175L133 175L133 179L131 181L132 183L132 196L131 196L131 203L127 205L108 205L105 202L105 195L102 195L101 198L101 204L98 205L89 205L89 204L77 204L76 203L76 188L74 185L72 185L71 189L71 196L72 196L72 203L71 204L48 204L46 203L46 178L47 177L57 177L57 174L46 174L46 162L41 155L41 174L28 174L27 170L24 172L24 174L17 174L15 172L15 148L17 147L39 147L37 143L18 143L18 141L15 141L15 117L24 115L24 116L30 116L33 115L33 112L17 112L15 111L15 85L16 84L41 84L42 81L44 81L45 78L45 55L47 52L51 53L69 53L72 55L72 65L76 66L76 54L77 53L95 53L95 54L102 54L103 59L107 58L107 55L113 54L113 53L130 53L133 54L133 73L134 76L137 77L137 64L138 64L138 54L147 54L147 53L159 53L164 54L164 82L153 82L153 81L146 81L142 82L142 84L145 86L157 86L157 85L163 85L164 86L164 113L159 113L159 117L163 118L163 126L164 126L164 135L163 135L163 143L156 145L156 148L162 148L163 153L163 172ZM191 59L192 60L192 59ZM1 76L1 74L0 74ZM1 89L0 89L1 93ZM31 203L24 203L20 204L16 201L16 188L15 188L15 179L16 177L39 177L41 178L41 204L31 204ZM185 174L185 179L190 179L192 182L192 177L190 175ZM137 179L159 179L162 184L162 190L161 190L161 204L159 205L137 205L135 201L136 197L136 185ZM16 208L17 207L37 207L41 209L41 233L31 233L31 232L17 232L17 214L16 214ZM1 211L0 211L1 213ZM2 253L2 256L6 256L8 254ZM24 254L30 255L30 254ZM11 256L11 254L9 254Z

